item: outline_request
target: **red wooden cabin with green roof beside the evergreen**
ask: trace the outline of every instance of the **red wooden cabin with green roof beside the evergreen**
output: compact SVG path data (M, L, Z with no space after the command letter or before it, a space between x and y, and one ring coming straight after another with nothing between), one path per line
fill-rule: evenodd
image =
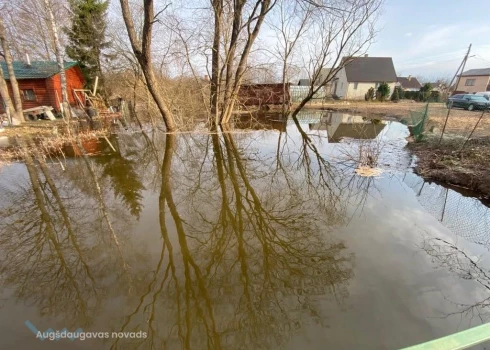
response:
M9 82L7 65L0 62L3 76L7 81L9 94L13 97ZM14 73L17 78L22 99L22 108L29 109L39 106L51 106L60 111L61 77L58 64L54 61L14 61ZM76 104L73 89L83 89L85 80L82 71L76 62L65 62L65 74L68 87L68 100ZM5 113L3 101L0 104L0 113Z

